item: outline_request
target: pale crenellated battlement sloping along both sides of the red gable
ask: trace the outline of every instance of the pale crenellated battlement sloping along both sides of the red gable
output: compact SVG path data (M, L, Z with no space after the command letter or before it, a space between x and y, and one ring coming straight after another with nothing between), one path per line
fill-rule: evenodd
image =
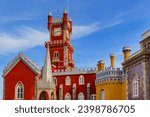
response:
M29 65L29 67L31 67L37 73L39 74L41 73L40 67L37 64L35 64L32 60L26 57L23 53L19 53L14 59L11 60L10 63L7 64L7 66L3 70L3 74L8 72L9 69L12 68L19 59L22 59L23 61L25 61Z

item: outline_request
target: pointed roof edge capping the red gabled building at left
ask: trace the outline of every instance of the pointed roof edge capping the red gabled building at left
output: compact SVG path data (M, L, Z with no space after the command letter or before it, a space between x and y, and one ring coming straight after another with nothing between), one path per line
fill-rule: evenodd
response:
M34 73L41 74L40 67L35 64L31 59L25 56L23 53L19 53L14 59L11 60L9 64L3 70L3 77L6 76L19 62L25 63Z

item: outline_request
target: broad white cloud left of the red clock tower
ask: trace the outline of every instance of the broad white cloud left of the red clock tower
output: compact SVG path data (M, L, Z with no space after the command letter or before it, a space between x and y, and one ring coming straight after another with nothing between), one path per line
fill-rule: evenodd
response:
M46 40L48 40L47 33L29 27L22 27L18 35L0 32L0 54L22 51L42 45Z

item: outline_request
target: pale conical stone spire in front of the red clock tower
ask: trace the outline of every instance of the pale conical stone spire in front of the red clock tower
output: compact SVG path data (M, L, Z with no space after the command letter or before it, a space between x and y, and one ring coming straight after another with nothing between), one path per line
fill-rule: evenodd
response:
M42 72L42 80L47 82L53 82L51 60L49 53L49 42L46 42L46 56L44 61L44 67Z

